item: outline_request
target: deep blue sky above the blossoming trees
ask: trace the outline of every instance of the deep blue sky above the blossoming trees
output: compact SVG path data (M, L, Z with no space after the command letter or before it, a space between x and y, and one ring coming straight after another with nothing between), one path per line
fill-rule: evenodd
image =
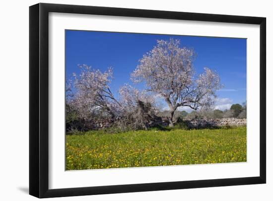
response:
M216 108L225 109L232 103L246 101L247 40L241 38L66 30L67 78L73 72L79 73L78 64L102 72L111 66L115 77L111 89L118 96L120 86L132 84L130 74L143 54L156 45L156 40L170 38L180 39L181 46L194 48L197 53L194 67L198 74L204 67L219 74L224 88L217 91Z

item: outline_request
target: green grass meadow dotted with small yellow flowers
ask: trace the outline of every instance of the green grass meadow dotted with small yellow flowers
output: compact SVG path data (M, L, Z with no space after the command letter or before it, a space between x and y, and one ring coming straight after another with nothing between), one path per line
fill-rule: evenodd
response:
M66 170L246 162L246 127L66 136Z

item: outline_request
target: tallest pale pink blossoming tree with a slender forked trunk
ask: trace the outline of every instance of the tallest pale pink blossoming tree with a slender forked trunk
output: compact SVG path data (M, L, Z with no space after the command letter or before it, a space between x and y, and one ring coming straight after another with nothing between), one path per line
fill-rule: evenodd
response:
M180 47L180 40L157 40L131 75L134 82L145 82L149 91L164 98L170 109L171 127L178 107L209 107L214 103L215 91L221 88L219 76L209 68L196 78L194 57L194 50Z

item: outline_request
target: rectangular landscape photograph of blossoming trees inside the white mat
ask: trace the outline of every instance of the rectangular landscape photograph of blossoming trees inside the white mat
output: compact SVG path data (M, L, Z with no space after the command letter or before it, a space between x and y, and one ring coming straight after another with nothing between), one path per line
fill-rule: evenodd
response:
M247 162L247 38L66 29L65 72L66 171Z

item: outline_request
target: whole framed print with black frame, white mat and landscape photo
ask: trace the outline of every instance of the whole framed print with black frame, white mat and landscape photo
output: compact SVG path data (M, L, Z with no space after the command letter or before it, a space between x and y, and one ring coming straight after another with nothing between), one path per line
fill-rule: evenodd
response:
M29 11L30 195L266 183L266 18Z

